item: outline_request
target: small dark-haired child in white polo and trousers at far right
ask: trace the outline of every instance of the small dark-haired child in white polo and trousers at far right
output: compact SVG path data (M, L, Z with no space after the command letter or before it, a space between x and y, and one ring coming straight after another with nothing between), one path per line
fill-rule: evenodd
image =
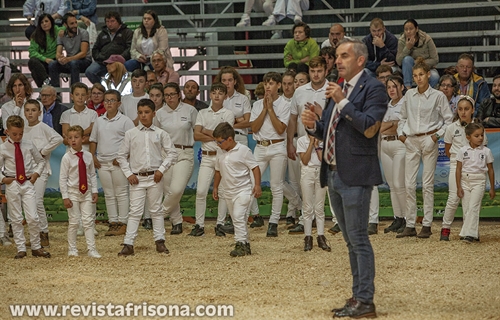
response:
M486 172L490 179L490 199L495 198L493 154L483 146L484 128L471 123L465 127L469 145L457 153L457 194L462 198L464 223L460 237L467 243L479 241L479 212L486 186Z

